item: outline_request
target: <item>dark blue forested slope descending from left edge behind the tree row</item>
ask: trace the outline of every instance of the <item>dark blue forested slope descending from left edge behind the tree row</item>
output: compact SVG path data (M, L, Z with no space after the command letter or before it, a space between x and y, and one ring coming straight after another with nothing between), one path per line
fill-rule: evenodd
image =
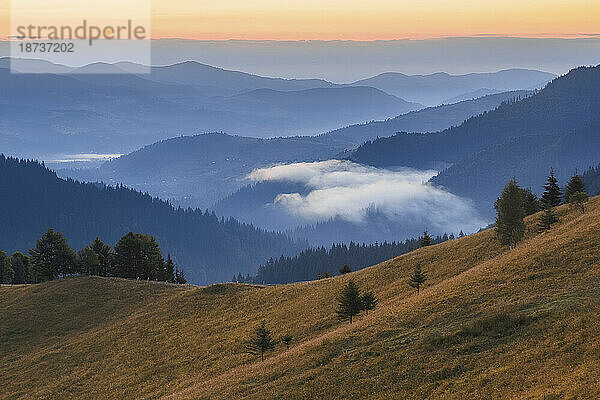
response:
M96 236L114 245L129 231L156 237L194 283L254 273L269 257L305 247L286 236L219 219L214 213L175 209L123 187L62 180L34 161L0 155L0 249L27 251L48 228L76 249Z

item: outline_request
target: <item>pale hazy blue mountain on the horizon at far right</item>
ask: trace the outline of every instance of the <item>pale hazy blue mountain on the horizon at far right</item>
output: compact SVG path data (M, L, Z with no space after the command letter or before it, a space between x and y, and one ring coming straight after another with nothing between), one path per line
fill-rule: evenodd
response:
M465 75L450 75L443 72L430 75L405 75L386 72L357 81L353 85L371 86L407 101L435 106L446 99L480 89L498 91L528 89L549 82L554 77L555 75L547 72L524 69Z

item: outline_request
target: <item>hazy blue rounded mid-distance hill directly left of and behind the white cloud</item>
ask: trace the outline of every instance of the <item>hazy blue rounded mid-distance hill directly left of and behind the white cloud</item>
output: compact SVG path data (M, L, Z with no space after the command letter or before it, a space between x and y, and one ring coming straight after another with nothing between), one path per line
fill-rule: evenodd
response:
M86 181L124 183L177 204L208 207L248 182L253 169L330 158L343 142L311 137L257 139L212 133L164 140L90 171L62 171Z

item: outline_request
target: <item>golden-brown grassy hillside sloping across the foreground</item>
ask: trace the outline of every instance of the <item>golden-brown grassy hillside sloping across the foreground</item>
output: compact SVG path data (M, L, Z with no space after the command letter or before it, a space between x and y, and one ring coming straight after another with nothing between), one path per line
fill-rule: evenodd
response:
M600 198L559 215L545 234L529 217L512 251L488 230L285 286L3 286L0 398L598 399ZM349 279L380 301L352 325ZM261 364L244 341L263 319L294 341Z

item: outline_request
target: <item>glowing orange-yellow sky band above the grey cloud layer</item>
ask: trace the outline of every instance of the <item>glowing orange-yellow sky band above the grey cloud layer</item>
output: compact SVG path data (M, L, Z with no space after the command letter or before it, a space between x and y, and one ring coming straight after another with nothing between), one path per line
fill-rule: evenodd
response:
M0 37L8 36L8 6L0 0ZM585 37L600 33L600 1L153 0L152 33L203 40Z

